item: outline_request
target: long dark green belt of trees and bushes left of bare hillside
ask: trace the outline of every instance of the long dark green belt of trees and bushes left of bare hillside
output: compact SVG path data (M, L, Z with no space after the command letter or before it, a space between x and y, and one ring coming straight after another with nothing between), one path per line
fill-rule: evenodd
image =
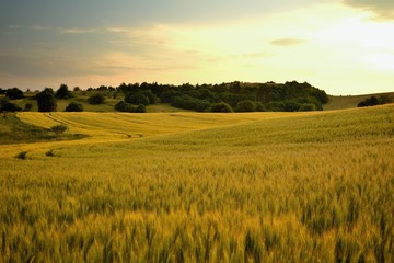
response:
M118 99L115 110L119 112L143 113L146 107L155 103L169 103L174 107L196 112L264 112L264 111L321 111L328 102L328 95L308 82L297 81L286 83L247 83L229 82L221 84L185 83L181 85L154 83L121 83L120 85L89 88L82 91L76 87L70 91L67 84L61 84L57 91L46 88L35 94L39 112L57 111L57 100L71 100L77 92L91 94L90 104L102 104L107 94ZM0 111L22 111L12 100L22 99L23 92L18 88L1 90L5 94ZM13 106L11 105L13 104ZM28 111L27 108L24 108ZM81 112L83 105L72 101L66 111Z

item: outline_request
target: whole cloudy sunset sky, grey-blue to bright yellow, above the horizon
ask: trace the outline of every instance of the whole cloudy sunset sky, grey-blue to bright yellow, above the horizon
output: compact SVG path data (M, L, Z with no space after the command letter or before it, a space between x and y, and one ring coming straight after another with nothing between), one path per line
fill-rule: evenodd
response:
M394 91L393 0L0 0L0 88L309 82Z

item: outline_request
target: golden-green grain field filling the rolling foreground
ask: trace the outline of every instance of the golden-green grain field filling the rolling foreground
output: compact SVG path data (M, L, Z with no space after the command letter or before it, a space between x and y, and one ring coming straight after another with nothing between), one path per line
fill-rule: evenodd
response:
M0 262L394 262L394 105L18 117Z

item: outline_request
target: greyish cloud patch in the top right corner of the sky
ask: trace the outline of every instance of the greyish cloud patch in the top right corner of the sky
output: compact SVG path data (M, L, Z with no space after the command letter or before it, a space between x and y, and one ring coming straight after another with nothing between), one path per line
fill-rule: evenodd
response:
M393 0L343 0L347 5L372 11L378 19L394 20Z

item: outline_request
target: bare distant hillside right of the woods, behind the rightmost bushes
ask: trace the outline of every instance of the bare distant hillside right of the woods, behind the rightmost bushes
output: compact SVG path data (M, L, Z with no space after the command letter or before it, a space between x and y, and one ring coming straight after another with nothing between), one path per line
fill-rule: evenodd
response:
M375 93L375 94L364 94L364 95L347 95L347 96L333 96L329 95L329 100L326 104L323 104L324 111L332 111L332 110L345 110L357 107L357 105L371 96L382 96L386 95L394 99L394 92L386 92L386 93Z

